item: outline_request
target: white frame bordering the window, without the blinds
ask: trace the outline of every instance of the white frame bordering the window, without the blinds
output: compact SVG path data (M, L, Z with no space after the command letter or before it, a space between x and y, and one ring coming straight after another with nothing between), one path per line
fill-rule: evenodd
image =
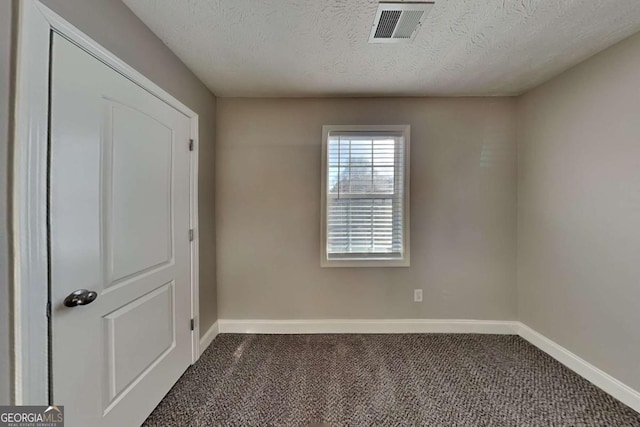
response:
M404 197L402 221L402 258L393 259L328 259L327 258L327 148L331 132L402 132L404 140ZM322 127L322 177L320 220L320 266L321 267L409 267L410 253L410 125L326 125Z

